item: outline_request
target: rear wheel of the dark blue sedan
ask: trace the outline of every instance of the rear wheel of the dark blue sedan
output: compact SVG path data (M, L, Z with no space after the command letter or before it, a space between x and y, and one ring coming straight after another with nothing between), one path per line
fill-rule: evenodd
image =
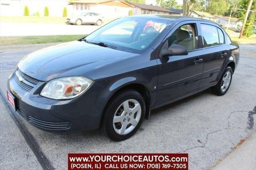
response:
M212 87L212 92L218 96L226 94L232 81L232 75L232 68L229 66L226 67L223 71L222 76L220 77L218 84Z

